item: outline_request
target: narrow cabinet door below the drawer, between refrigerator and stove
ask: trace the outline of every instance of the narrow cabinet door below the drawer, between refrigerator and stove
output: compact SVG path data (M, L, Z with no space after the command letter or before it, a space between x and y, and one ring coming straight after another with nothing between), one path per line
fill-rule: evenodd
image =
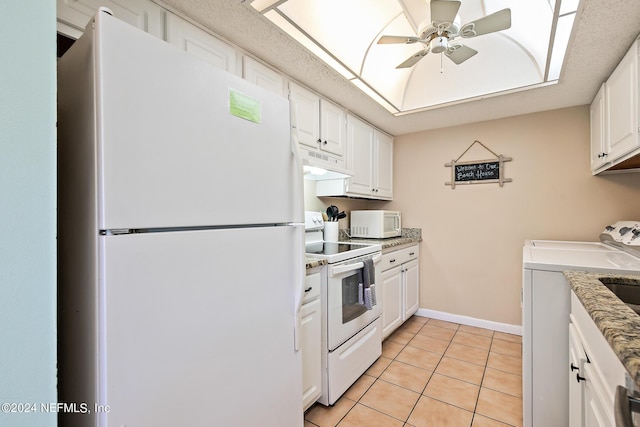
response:
M302 405L306 410L322 392L320 299L304 304L301 315Z

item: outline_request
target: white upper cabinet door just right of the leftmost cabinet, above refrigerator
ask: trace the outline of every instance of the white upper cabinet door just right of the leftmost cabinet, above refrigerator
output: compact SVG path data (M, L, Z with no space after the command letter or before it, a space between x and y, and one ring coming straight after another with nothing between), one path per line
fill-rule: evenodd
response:
M167 41L205 62L240 75L232 46L172 13L167 14Z

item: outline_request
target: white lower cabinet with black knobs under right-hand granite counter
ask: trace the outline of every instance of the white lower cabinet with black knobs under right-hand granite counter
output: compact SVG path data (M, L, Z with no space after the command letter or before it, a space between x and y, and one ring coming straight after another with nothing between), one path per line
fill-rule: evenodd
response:
M614 427L615 392L627 371L573 291L569 319L570 426Z

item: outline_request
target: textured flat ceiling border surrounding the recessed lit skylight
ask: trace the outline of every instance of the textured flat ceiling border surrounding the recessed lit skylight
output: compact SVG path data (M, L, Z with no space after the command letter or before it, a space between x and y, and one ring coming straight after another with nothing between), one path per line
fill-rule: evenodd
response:
M590 104L640 33L640 1L581 0L558 84L393 116L241 0L156 1L393 135Z

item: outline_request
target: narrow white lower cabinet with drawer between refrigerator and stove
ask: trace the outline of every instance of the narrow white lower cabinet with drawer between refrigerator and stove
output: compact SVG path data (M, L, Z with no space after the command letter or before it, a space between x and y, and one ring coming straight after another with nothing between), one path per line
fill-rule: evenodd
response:
M302 351L302 406L306 411L322 393L322 311L320 300L321 273L309 270L302 300L300 348Z

